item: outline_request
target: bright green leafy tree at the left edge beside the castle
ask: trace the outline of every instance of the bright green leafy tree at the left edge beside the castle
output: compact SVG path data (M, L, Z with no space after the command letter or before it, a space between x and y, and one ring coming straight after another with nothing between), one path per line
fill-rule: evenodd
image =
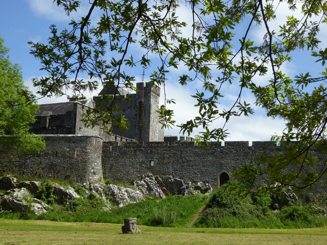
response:
M21 68L9 61L9 48L0 37L0 143L8 150L21 153L38 153L44 142L28 133L29 123L39 106L23 84ZM1 137L10 134L10 137Z

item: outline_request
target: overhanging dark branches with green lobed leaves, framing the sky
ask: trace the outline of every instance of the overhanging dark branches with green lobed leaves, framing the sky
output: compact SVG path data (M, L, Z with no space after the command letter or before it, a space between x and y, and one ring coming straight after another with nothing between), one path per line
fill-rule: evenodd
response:
M54 2L67 14L81 5L74 0ZM250 103L241 99L249 89L255 105L264 108L268 117L286 122L282 135L272 138L283 150L273 157L259 156L257 175L268 176L271 186L309 190L323 179L327 164L311 155L309 148L321 148L323 154L327 151L327 91L323 85L327 68L322 67L319 74L290 77L283 72L283 65L299 49L311 52L317 66L325 65L327 48L320 48L318 39L320 30L326 28L325 0L90 0L89 7L80 20L70 22L70 29L58 31L52 25L48 44L29 42L31 53L49 74L34 79L40 96L61 96L69 89L78 94L114 84L135 90L135 77L126 67L153 65L157 68L150 82L164 87L166 74L185 66L188 71L181 74L179 83L192 86L200 82L202 90L192 95L198 115L179 125L183 134L199 128L200 144L224 140L231 117L254 112ZM284 24L273 28L278 11L286 8L301 11L301 16L289 15ZM181 21L179 15L183 14L189 14L192 21ZM242 33L234 30L238 25ZM264 33L251 40L249 33L258 26ZM134 47L141 54L133 52ZM80 79L82 75L88 79ZM256 83L256 76L265 76L266 83ZM238 85L238 96L230 108L220 110L218 104L229 84ZM114 98L103 92L101 102L101 109L87 112L86 125L101 124L108 131L111 122L126 127L125 121L113 114L121 109L113 103ZM174 123L172 110L159 113L166 127ZM218 118L225 123L212 129L210 125ZM322 164L315 169L318 161ZM242 174L244 171L235 172L236 177Z

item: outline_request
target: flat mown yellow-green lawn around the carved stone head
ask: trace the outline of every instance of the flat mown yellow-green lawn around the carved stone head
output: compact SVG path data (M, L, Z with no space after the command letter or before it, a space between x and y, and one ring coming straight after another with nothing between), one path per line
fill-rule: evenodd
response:
M143 234L122 234L122 224L0 218L0 244L291 244L325 245L327 227L311 229L161 228L138 225Z

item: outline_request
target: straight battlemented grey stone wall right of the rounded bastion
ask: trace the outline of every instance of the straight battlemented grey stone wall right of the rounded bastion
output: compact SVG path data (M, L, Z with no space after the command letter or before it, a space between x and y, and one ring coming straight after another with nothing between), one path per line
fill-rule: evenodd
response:
M198 147L194 141L175 142L103 142L102 166L105 178L129 183L142 174L171 175L191 181L206 181L219 186L219 174L230 173L234 168L255 162L261 152L275 152L270 141L226 141L225 146L215 143Z

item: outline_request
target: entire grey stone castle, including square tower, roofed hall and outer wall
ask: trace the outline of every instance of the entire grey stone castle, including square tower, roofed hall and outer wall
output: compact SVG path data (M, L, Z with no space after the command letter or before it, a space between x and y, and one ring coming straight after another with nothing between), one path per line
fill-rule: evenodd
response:
M160 109L160 88L151 87L151 83L137 83L137 88L135 94L129 95L130 104L118 98L127 96L125 90L109 87L105 91L116 93L117 103L130 124L129 131L122 134L113 129L113 135L108 135L100 127L87 128L80 122L84 111L96 106L97 97L41 104L31 132L43 136L45 149L38 156L14 160L0 153L0 173L77 183L104 179L130 183L150 172L217 187L230 179L234 168L255 161L259 152L273 154L276 150L270 141L253 141L252 146L249 141L225 141L225 146L215 142L210 147L198 147L190 137L164 137L156 112ZM323 160L318 150L313 154Z

